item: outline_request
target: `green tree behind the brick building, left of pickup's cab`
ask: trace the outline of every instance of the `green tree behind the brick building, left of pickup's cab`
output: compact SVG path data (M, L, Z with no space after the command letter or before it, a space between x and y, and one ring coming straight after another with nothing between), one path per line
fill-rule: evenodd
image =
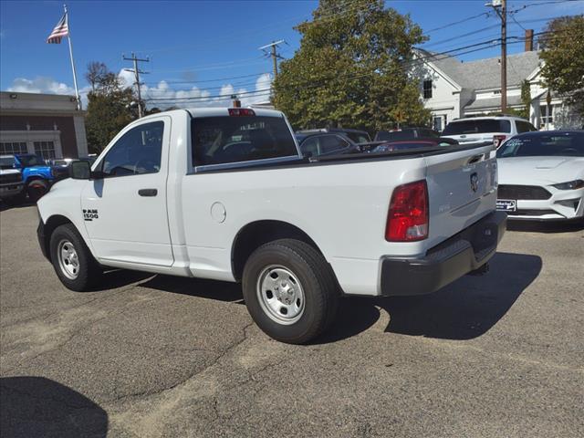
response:
M115 135L135 116L129 110L130 102L135 100L131 88L125 88L118 75L108 70L103 63L90 63L90 67L99 64L103 70L95 77L92 91L88 94L88 115L85 120L89 152L99 153Z

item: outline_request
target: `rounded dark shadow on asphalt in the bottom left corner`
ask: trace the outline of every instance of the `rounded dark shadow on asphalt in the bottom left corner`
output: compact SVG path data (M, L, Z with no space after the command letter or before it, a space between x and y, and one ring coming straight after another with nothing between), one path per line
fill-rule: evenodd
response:
M87 397L42 377L0 379L3 437L105 437L108 414Z

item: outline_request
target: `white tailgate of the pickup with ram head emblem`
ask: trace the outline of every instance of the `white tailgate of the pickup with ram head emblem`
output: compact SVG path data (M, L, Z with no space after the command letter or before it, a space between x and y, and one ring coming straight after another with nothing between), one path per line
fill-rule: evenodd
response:
M464 230L496 203L496 158L492 145L424 158L430 205L428 248Z

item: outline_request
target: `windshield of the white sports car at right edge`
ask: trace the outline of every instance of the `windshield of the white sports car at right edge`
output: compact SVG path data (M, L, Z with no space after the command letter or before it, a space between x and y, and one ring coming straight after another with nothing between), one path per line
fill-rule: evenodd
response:
M567 156L584 157L584 132L541 133L517 136L496 151L497 158Z

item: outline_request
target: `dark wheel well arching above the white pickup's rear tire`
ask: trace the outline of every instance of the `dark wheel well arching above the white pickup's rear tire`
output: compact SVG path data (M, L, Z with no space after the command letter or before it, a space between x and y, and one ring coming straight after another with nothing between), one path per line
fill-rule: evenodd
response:
M231 252L231 268L235 279L240 280L244 273L247 258L261 245L278 239L297 239L313 246L318 253L322 251L304 231L293 224L282 221L257 221L245 225L235 235Z

